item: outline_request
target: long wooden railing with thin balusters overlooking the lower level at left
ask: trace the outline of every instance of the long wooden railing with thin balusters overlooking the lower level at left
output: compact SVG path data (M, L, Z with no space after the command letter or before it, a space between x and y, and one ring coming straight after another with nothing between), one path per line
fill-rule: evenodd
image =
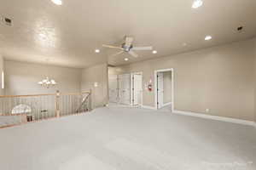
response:
M86 96L85 96L86 95ZM82 98L82 99L81 99ZM0 95L0 128L27 122L77 115L91 110L91 91L82 93ZM12 114L16 105L29 105L31 112L20 110Z

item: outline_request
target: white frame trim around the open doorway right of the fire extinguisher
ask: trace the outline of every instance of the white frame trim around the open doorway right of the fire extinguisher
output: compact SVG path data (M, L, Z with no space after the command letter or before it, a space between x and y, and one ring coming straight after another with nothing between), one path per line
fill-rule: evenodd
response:
M157 73L172 71L172 112L174 111L174 69L162 69L154 71L154 109L158 110Z

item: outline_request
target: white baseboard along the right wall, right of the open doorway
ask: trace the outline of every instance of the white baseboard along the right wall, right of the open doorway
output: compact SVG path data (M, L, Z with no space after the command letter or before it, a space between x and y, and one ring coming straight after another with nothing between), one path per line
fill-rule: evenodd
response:
M233 123L238 123L238 124L242 124L242 125L248 125L248 126L256 127L255 122L244 121L244 120L234 119L234 118L230 118L230 117L210 116L210 115L206 115L206 114L203 114L203 113L195 113L195 112L190 112L190 111L177 111L177 110L173 111L173 113L174 114L185 115L185 116L196 116L196 117L201 117L201 118L205 118L205 119L212 119L212 120L215 120L215 121L233 122Z

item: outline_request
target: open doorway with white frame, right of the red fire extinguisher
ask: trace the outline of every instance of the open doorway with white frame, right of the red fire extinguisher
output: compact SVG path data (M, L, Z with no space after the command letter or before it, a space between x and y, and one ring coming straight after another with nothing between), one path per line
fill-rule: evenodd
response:
M154 71L154 105L156 110L174 110L173 69Z

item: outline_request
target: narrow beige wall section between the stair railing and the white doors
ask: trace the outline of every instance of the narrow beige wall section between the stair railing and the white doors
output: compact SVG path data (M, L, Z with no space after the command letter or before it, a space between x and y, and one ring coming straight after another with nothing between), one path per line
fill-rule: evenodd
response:
M97 83L98 87L94 84ZM108 104L108 65L95 65L82 71L81 90L92 90L92 107Z

